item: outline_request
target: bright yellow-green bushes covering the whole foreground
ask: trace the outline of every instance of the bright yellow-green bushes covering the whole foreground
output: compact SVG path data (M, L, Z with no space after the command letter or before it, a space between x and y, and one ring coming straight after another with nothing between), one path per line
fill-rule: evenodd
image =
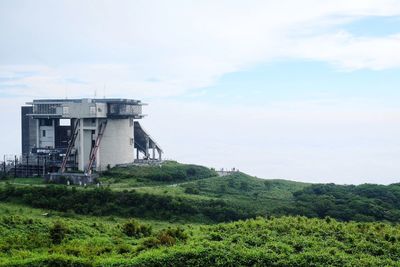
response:
M129 220L39 216L0 215L0 266L399 266L400 261L400 227L386 223L257 218L131 237L124 233ZM64 231L60 243L51 237L56 224Z

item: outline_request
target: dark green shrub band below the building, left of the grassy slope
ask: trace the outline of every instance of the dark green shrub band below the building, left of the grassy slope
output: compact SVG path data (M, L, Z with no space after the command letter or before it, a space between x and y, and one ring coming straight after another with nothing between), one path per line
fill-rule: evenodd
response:
M190 200L179 197L116 192L107 188L77 189L67 186L0 187L0 201L22 203L36 208L96 216L117 215L154 219L232 221L254 217L222 200Z

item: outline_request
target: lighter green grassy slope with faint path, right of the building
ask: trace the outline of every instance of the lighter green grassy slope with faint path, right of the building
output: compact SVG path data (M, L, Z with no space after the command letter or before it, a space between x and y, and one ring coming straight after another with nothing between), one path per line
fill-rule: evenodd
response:
M200 175L174 179L176 173L186 173L188 168L195 166ZM171 170L174 171L171 171ZM164 180L154 179L157 175L171 177ZM224 201L251 209L259 214L270 213L290 205L293 201L293 192L308 186L307 183L286 180L265 180L255 178L244 173L235 173L219 177L196 165L185 165L176 162L167 162L159 166L131 167L112 169L102 182L108 184L112 190L135 189L138 192L173 196L188 199L222 199ZM188 189L189 188L189 189ZM193 188L194 190L190 190Z

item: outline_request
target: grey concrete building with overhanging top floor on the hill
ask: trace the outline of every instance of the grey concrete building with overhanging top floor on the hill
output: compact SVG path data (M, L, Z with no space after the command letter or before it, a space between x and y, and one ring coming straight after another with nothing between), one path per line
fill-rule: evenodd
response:
M53 155L59 171L85 173L161 160L142 128L143 103L132 99L39 99L21 108L22 153Z

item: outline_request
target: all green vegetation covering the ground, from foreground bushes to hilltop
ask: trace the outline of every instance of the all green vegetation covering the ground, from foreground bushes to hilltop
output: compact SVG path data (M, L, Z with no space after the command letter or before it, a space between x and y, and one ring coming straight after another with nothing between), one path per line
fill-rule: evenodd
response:
M400 184L216 175L167 162L100 188L1 181L0 266L400 266Z

